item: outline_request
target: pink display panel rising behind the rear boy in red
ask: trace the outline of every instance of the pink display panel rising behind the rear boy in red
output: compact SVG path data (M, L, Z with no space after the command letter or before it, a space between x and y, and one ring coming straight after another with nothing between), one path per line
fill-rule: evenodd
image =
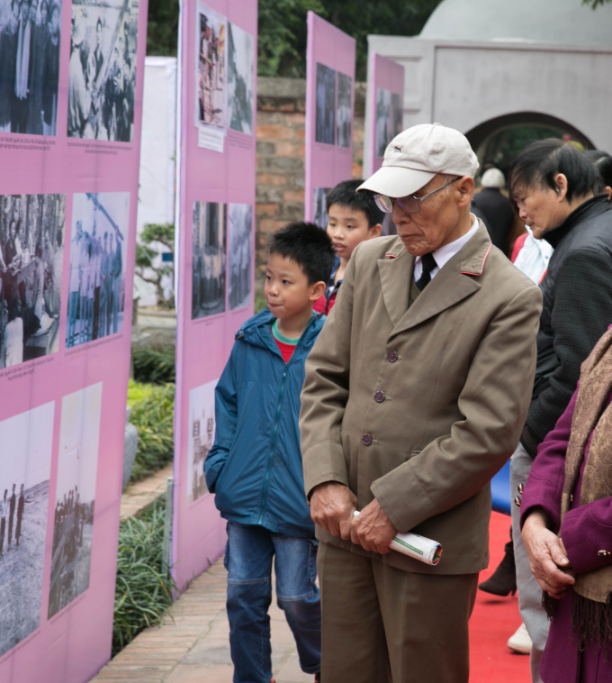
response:
M326 193L352 175L355 57L355 39L308 13L304 215L321 228Z

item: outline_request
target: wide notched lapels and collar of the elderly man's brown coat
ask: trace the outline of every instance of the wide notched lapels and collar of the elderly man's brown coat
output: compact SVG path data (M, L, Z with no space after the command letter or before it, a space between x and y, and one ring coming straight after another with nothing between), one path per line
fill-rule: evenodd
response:
M414 257L404 249L401 239L378 260L383 300L392 320L392 336L409 330L462 301L481 288L476 278L482 275L491 251L491 238L484 223L459 253L449 260L417 301L408 308Z

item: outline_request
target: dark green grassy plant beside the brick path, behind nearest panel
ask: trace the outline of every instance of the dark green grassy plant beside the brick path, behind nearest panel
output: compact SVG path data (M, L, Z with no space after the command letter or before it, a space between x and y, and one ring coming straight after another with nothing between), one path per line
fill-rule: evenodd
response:
M162 571L166 501L119 525L112 656L140 631L159 624L172 605L172 578Z

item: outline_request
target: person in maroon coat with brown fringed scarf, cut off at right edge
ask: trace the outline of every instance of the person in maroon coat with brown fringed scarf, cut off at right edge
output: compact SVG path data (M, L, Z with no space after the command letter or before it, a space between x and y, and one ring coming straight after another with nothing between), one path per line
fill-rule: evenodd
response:
M552 616L545 683L612 681L611 404L608 329L538 448L522 497L523 540Z

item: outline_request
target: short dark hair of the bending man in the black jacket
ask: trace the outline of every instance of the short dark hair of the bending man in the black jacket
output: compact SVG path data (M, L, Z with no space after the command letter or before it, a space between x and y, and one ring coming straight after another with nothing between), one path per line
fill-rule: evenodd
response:
M548 138L527 145L515 159L509 172L510 196L514 198L515 188L519 185L533 187L539 184L557 192L554 177L558 173L567 178L565 198L568 202L574 195L599 194L603 190L599 172L584 152L572 142Z

